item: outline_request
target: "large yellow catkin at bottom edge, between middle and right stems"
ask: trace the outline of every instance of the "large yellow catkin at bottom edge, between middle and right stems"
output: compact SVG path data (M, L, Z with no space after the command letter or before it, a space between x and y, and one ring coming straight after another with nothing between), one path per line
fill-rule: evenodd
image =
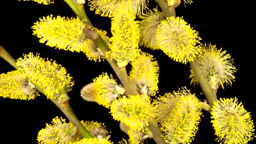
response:
M186 87L166 93L155 102L157 121L161 123L163 137L168 143L190 143L198 130L201 105L195 94Z

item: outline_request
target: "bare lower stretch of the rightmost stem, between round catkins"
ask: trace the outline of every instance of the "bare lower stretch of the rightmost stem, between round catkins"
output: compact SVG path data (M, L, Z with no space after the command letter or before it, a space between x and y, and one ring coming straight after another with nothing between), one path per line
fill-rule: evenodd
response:
M199 66L197 59L195 58L194 61L190 61L189 63L190 63L191 68L193 69L193 71L196 74L196 77L204 91L205 97L206 97L207 101L209 102L209 105L212 107L213 101L217 100L216 93L213 92L209 82L203 75L203 73L201 71L201 67Z

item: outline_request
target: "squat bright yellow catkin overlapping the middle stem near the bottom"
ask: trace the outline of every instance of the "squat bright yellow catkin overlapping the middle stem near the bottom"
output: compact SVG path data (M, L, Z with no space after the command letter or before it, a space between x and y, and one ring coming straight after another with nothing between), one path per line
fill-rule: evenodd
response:
M129 95L114 100L110 113L114 119L129 126L132 130L143 130L149 118L155 116L155 107L145 95Z

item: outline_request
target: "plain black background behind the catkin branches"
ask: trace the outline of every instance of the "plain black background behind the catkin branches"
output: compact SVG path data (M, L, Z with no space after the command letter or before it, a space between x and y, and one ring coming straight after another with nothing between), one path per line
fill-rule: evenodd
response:
M255 28L253 9L251 3L242 1L203 1L195 0L193 4L185 7L181 4L176 9L177 16L185 19L190 26L199 32L201 43L211 43L222 47L234 58L234 65L238 69L235 73L236 81L225 89L218 90L218 98L237 97L246 110L251 111L252 119L256 119L254 109L255 75L254 75L254 38ZM156 3L150 1L150 7ZM94 15L85 5L85 11L95 27L107 30L110 34L110 19ZM255 12L254 12L255 13ZM111 140L117 143L127 135L119 130L119 124L109 114L109 110L98 106L97 103L86 102L80 97L80 90L94 77L102 72L111 73L117 79L114 71L107 61L94 62L87 60L83 53L55 50L38 42L32 35L31 26L43 16L53 14L61 17L76 17L69 6L63 1L54 4L41 5L35 2L18 2L18 0L2 0L0 3L0 45L2 45L15 59L29 52L40 53L41 57L56 60L65 67L73 77L75 85L69 92L70 105L73 107L78 119L105 123L111 131ZM182 86L187 86L192 93L204 100L204 95L199 94L199 86L191 86L189 64L177 63L168 58L162 51L153 51L141 47L142 51L153 54L159 63L159 95L166 92L177 91ZM130 66L127 66L130 69ZM0 73L14 70L3 59L0 59ZM37 143L36 137L39 130L50 123L55 116L66 118L65 115L46 97L41 94L35 100L12 100L0 97L0 143ZM203 111L199 130L192 143L218 143L214 139L210 115ZM255 125L255 124L254 124ZM148 143L154 143L148 140ZM250 141L249 143L255 143Z

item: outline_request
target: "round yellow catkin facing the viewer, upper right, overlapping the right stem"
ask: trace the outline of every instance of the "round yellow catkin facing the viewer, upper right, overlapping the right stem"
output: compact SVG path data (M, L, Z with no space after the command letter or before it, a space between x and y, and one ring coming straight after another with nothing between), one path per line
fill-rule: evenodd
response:
M196 47L201 38L198 32L187 25L182 17L169 17L158 25L156 42L166 55L174 61L187 63L193 61L201 49Z

